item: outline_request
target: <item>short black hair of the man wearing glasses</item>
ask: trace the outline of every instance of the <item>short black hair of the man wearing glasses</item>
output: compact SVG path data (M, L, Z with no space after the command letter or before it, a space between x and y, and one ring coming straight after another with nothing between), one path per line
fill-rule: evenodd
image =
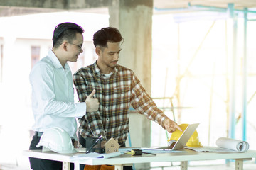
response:
M81 26L75 23L60 23L55 27L53 32L53 47L58 47L61 45L63 40L68 40L68 42L73 42L75 40L76 33L84 33Z

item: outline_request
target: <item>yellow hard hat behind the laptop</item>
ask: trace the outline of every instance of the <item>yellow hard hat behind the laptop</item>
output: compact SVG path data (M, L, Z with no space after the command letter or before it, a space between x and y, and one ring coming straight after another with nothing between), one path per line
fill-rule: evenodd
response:
M181 124L178 126L182 129L182 132L179 131L178 129L176 129L171 134L171 137L167 140L168 142L170 142L171 140L178 141L178 139L179 139L179 137L181 137L183 131L186 130L186 128L188 127L188 124ZM193 135L191 136L191 138L189 138L188 142L186 143L186 146L188 146L188 147L203 147L203 145L201 145L201 142L199 142L198 132L196 132L196 131L193 132Z

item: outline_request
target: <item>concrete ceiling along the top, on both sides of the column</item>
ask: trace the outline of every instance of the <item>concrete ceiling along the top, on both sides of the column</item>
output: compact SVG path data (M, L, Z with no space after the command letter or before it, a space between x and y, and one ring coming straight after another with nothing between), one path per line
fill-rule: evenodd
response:
M67 10L108 13L107 7L116 4L117 1L118 0L0 0L0 17ZM195 10L207 11L209 7L228 8L228 4L234 4L235 9L256 8L255 0L154 0L153 4L154 13L179 13Z

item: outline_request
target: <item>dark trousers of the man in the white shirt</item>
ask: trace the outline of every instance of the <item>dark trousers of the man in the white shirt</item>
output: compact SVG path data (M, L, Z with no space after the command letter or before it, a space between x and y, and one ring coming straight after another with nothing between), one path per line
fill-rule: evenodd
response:
M36 147L41 137L33 136L29 150L43 149L43 147ZM38 159L29 157L31 169L33 170L62 170L62 162L51 161L48 159ZM70 164L70 170L74 169L74 164Z

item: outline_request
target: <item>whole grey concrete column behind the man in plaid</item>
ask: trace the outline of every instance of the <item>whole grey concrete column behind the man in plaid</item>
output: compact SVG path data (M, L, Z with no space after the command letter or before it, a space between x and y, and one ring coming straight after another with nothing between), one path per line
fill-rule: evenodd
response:
M109 8L110 26L118 28L124 38L119 64L132 69L150 95L153 1L116 0L113 4ZM137 112L129 116L132 147L150 146L150 120ZM149 164L140 164L137 169L140 167L146 168Z

